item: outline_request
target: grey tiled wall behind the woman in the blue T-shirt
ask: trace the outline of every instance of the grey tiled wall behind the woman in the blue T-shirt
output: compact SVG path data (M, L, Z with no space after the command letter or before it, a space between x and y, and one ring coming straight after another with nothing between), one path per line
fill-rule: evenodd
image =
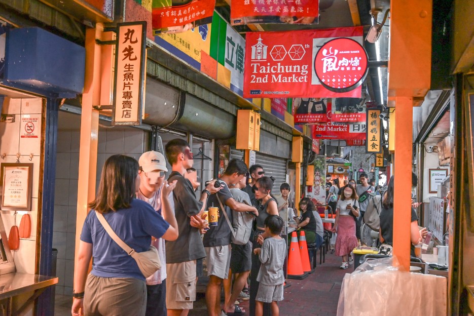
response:
M71 295L74 276L76 214L79 175L80 116L59 113L53 248L58 250L57 294ZM138 160L148 148L148 132L135 128L100 128L97 148L97 184L105 160L121 153Z

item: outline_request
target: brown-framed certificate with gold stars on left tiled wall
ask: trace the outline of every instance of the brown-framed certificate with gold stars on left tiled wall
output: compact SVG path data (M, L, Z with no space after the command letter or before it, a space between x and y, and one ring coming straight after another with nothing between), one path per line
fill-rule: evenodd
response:
M0 209L31 211L33 164L1 164L0 181Z

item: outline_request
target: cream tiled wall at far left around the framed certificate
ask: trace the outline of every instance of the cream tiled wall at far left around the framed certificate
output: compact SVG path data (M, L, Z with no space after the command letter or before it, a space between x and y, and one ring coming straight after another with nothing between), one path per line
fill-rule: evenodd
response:
M31 211L31 235L29 238L20 239L18 250L12 251L17 272L34 273L36 255L36 235L38 227L38 192L40 180L40 155L41 155L41 113L43 100L36 99L10 99L5 98L2 113L12 114L14 123L0 123L0 154L6 156L0 163L16 163L17 153L20 153L20 163L33 164L33 187ZM34 124L34 133L38 137L25 136L25 120L28 117L39 117L40 124ZM30 160L30 154L32 158ZM15 212L1 211L5 230L8 233L15 224ZM22 213L16 215L16 224L20 225Z

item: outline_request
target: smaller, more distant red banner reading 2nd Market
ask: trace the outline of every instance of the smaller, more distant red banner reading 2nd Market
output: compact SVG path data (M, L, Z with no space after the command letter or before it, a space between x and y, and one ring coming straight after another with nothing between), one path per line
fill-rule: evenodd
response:
M336 125L329 122L312 125L311 134L313 139L366 139L366 124Z

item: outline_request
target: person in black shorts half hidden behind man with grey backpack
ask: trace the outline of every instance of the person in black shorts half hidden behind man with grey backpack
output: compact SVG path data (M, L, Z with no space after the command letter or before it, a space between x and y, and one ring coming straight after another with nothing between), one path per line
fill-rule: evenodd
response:
M245 177L237 182L234 188L230 191L234 200L241 203L250 204L250 197L248 194L241 189L245 187ZM258 212L253 213L258 216ZM247 212L238 212L232 210L233 224L237 223L237 217L242 217L242 221L253 221L253 216ZM234 228L237 228L234 226ZM237 245L231 243L231 263L229 269L229 278L224 280L224 292L225 292L225 306L224 311L227 315L238 315L237 308L235 308L234 302L237 298L248 300L250 297L247 293L243 292L244 286L247 282L248 275L250 274L250 268L252 266L252 246L250 241L245 245ZM232 286L232 275L234 275L234 285ZM231 289L232 288L232 289Z

